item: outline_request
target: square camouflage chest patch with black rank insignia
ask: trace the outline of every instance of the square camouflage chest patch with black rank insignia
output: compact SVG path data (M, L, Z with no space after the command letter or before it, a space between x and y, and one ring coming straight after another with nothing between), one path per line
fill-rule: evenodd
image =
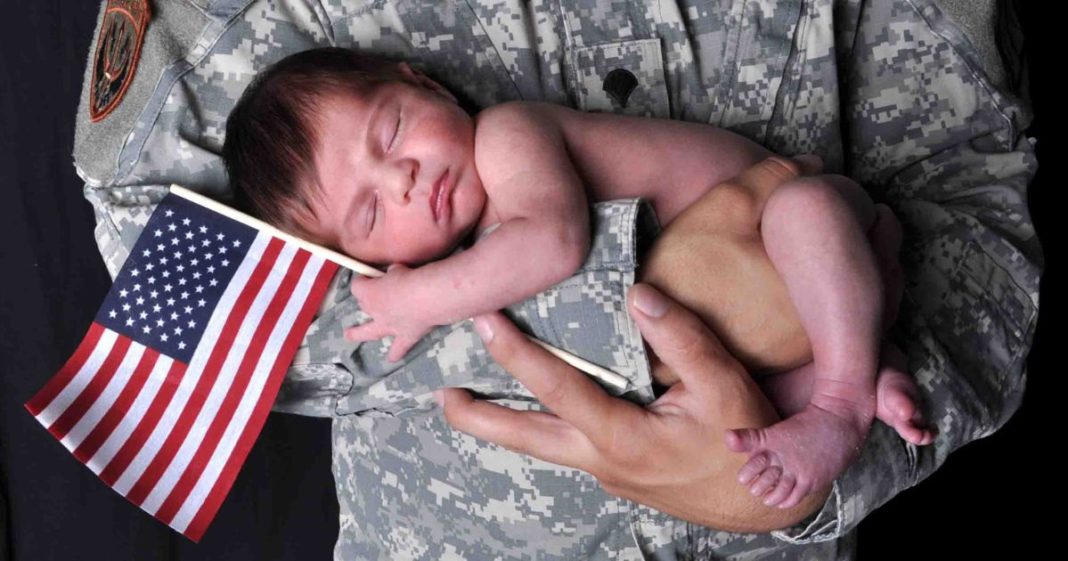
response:
M662 61L659 38L572 48L579 109L670 118Z

